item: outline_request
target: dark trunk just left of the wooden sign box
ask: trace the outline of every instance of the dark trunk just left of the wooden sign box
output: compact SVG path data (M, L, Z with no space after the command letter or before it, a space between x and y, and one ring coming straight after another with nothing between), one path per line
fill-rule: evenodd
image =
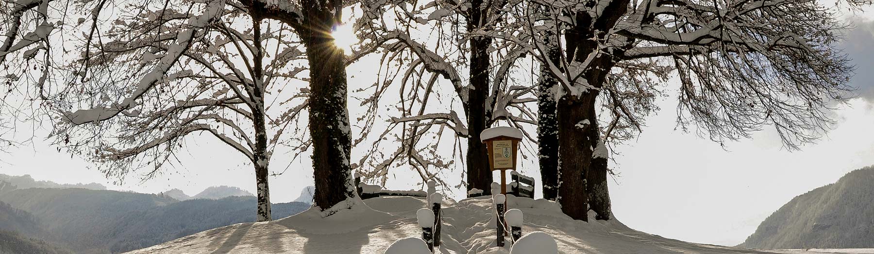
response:
M468 18L468 31L476 31L485 19L485 10L481 10L482 0L471 2L472 10ZM480 11L477 11L480 10ZM470 38L470 86L465 114L468 117L468 191L481 189L483 195L491 195L492 173L489 169L489 158L486 146L480 141L480 133L487 126L486 120L490 112L486 111L486 100L489 98L489 45L491 38Z

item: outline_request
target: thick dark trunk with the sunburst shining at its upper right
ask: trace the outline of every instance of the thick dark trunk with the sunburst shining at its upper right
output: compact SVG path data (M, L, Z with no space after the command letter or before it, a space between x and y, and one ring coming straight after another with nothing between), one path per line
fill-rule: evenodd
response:
M339 1L302 1L299 31L309 59L309 132L313 141L313 200L322 210L355 197L350 168L351 137L343 50L330 32L340 20ZM336 4L336 6L330 6Z

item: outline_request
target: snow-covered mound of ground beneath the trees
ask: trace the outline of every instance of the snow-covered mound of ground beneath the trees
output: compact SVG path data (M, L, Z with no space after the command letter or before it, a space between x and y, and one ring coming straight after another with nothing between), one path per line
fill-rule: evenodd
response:
M343 210L321 218L308 210L266 223L239 223L128 253L304 253L382 254L394 241L420 237L416 210L425 198L387 196L365 201L369 206ZM523 233L544 231L554 237L561 253L874 253L874 250L748 250L692 244L629 229L619 221L574 221L547 201L508 198L510 209L524 212ZM442 244L435 253L510 253L495 246L495 222L489 196L443 201ZM508 237L509 239L509 237ZM856 252L851 252L856 251ZM860 252L861 251L861 252Z

